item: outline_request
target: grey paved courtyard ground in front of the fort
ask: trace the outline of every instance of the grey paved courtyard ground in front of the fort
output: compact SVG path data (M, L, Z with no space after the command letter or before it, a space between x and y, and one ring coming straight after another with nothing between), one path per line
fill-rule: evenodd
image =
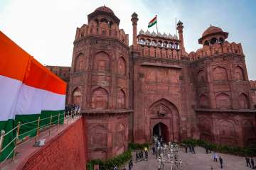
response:
M178 159L182 159L183 162L183 169L182 170L210 170L210 166L213 166L213 169L220 169L220 162L213 162L213 155L206 154L206 150L202 147L196 147L195 148L196 154L191 153L185 153L184 149L181 148L178 151ZM238 157L233 156L230 154L219 154L218 156L221 156L223 158L223 169L228 170L249 170L250 168L247 168L245 166L245 157ZM133 160L135 160L135 155L133 153ZM256 161L256 158L255 158ZM128 169L128 166L126 167ZM171 170L171 165L166 164L164 166L165 170ZM132 170L157 170L157 162L156 157L151 154L149 154L149 161L145 162L134 162L134 167Z

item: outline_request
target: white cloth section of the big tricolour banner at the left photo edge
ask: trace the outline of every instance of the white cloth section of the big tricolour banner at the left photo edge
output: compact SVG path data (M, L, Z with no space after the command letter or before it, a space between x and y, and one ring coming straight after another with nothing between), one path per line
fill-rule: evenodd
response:
M22 82L0 75L0 121L14 119L18 92Z

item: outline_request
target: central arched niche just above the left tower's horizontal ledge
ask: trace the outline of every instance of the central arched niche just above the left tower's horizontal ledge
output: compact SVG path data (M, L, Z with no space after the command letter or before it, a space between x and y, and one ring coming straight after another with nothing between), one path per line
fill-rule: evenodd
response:
M97 88L92 92L92 109L102 110L108 108L108 93L105 89Z

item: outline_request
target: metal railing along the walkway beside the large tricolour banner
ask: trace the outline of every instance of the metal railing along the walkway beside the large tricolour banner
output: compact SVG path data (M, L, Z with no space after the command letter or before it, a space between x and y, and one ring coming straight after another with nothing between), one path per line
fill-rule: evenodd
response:
M62 116L62 115L63 115L63 117L60 118L60 116ZM18 145L18 140L20 140L20 138L23 135L29 134L29 132L33 132L34 130L36 130L36 135L31 137L31 139L35 138L35 143L36 143L36 142L38 142L38 137L39 137L41 131L46 130L48 128L48 133L49 133L49 136L50 136L50 131L52 130L53 125L57 125L56 129L58 131L59 130L60 121L63 120L63 124L64 124L65 120L66 120L66 123L68 124L70 118L73 119L73 118L75 118L78 115L80 115L80 111L68 111L68 112L64 112L64 113L58 113L58 115L54 115L54 116L50 115L49 117L43 118L43 119L41 119L40 116L39 116L38 120L33 120L31 122L28 122L28 123L18 122L18 125L16 125L16 127L14 127L13 129L9 130L9 132L5 132L4 130L1 130L1 135L0 135L0 156L1 156L2 152L4 152L4 150L6 150L12 143L14 143L14 148L11 150L11 152L9 152L7 157L0 163L0 168L1 168L1 166L4 165L4 162L6 162L6 160L9 159L11 154L13 154L12 157L11 157L11 162L14 162L14 159L15 159L15 156L16 156L16 148L18 146L20 146L20 145ZM53 121L53 118L55 118L55 117L58 117L58 119ZM41 126L41 122L43 120L48 120L48 119L50 119L50 122L46 123L46 125L42 125ZM28 125L28 124L31 124L31 123L36 123L36 122L37 122L36 128L33 128L32 130L28 130L28 131L23 132L22 134L20 134L20 130L21 130L22 126ZM4 148L3 148L4 137L6 137L7 135L11 134L11 132L14 133L15 130L16 130L15 137L6 146L4 146ZM25 142L31 141L31 139L30 140L26 140ZM21 139L21 140L23 140L23 139ZM21 144L23 144L25 142L21 142Z

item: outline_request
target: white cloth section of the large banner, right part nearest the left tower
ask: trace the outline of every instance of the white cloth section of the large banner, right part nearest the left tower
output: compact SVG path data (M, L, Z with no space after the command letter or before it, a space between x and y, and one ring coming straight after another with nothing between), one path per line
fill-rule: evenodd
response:
M40 114L41 111L59 111L65 109L65 95L37 89L22 84L18 96L16 115Z

